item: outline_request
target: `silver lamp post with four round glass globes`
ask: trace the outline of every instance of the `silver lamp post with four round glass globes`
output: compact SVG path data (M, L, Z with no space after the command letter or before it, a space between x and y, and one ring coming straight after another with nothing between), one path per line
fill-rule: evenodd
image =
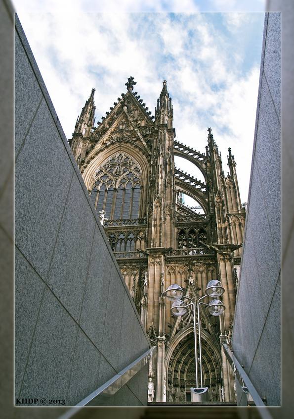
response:
M198 335L199 335L199 361L200 361L200 379L201 379L201 387L198 387L198 368L197 368L197 338L196 338L196 320L195 320L195 304L194 301L189 297L184 297L184 290L177 284L172 284L168 287L168 289L165 292L166 297L168 300L172 301L173 304L170 308L171 313L173 313L176 316L183 315L187 313L187 308L189 306L193 306L193 314L194 314L194 343L195 343L195 364L196 364L196 384L197 388L192 389L191 388L191 396L192 396L192 390L196 394L207 394L208 387L203 388L203 378L202 378L202 354L201 354L201 330L200 330L200 313L199 313L199 306L200 304L203 304L204 306L208 307L208 310L210 314L214 316L218 316L223 313L225 310L225 306L222 304L220 300L217 299L217 297L220 297L224 293L224 288L221 284L221 282L213 279L211 280L205 290L205 295L201 297L198 300L197 303L197 314L198 314ZM213 300L210 301L209 304L203 303L201 300L205 297L212 297ZM186 304L184 301L181 300L181 298L184 298L186 300L191 301L191 303ZM196 390L196 391L195 391ZM197 391L198 390L198 391ZM197 399L197 397L196 397ZM199 399L195 401L201 401Z

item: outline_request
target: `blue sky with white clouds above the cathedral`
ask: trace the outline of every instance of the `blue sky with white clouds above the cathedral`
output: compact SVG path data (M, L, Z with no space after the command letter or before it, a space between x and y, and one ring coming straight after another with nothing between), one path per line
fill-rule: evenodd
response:
M247 1L247 9L240 8L239 1L239 9L235 7L254 13L197 13L203 6L192 0L182 1L181 11L186 8L192 11L189 13L157 13L167 9L165 1L150 1L147 11L156 12L145 13L85 13L81 11L89 8L83 8L79 1L72 2L73 12L65 13L60 11L60 4L67 1L56 7L54 1L18 2L14 1L16 11L67 138L72 137L93 87L97 125L126 92L128 77L134 77L134 91L152 114L166 79L176 139L204 153L211 127L225 174L227 149L232 149L241 200L247 201L264 1L254 1L252 7ZM131 3L125 2L123 11L128 11ZM206 8L209 4L224 11L229 3L232 6L236 2L211 0ZM106 6L101 4L103 11ZM120 11L122 3L117 4ZM138 7L140 4L136 2ZM190 167L179 158L176 165L201 179L194 165Z

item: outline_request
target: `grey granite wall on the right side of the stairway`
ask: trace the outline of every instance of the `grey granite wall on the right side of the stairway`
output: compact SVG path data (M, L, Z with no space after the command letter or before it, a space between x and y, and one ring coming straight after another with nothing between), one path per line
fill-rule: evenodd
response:
M280 391L280 13L266 13L248 212L232 347L260 397ZM238 405L246 405L237 386Z

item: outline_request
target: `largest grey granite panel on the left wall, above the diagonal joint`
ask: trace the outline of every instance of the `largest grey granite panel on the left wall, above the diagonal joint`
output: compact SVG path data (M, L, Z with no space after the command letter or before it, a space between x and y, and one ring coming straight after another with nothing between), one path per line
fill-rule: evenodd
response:
M45 278L73 166L45 102L15 164L15 243Z

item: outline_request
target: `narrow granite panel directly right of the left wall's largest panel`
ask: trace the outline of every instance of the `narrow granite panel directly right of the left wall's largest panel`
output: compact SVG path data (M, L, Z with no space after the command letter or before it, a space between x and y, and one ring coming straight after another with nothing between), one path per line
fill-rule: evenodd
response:
M74 175L60 223L47 283L79 322L95 219Z

